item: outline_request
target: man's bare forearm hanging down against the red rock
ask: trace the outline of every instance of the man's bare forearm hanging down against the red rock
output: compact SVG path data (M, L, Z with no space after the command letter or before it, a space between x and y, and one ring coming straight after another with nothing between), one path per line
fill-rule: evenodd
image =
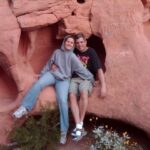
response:
M101 85L101 97L105 97L106 93L107 93L107 89L106 89L106 82L105 82L105 77L104 77L104 73L103 70L100 68L97 71L98 73L98 80L100 82Z

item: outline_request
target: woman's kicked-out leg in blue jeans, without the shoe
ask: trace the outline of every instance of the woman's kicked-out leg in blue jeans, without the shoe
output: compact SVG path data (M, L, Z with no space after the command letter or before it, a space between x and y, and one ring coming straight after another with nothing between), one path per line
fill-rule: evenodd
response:
M45 73L23 98L22 106L31 111L36 104L37 97L39 96L41 90L46 86L53 84L55 84L54 76L50 72Z

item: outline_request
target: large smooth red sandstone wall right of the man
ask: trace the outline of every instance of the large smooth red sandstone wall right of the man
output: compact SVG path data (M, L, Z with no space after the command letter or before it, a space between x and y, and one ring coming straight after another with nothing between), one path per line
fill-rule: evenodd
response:
M93 1L91 27L106 48L108 95L105 100L91 98L89 111L149 133L150 43L143 31L143 10L141 1Z

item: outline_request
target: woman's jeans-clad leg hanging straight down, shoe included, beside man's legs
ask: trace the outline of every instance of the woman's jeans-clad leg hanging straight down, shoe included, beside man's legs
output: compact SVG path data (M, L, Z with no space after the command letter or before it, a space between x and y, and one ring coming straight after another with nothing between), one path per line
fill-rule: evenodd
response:
M64 81L57 80L55 84L57 102L60 111L60 128L61 128L60 143L61 144L66 143L66 136L69 128L69 117L68 117L69 84L70 84L70 80L64 80Z

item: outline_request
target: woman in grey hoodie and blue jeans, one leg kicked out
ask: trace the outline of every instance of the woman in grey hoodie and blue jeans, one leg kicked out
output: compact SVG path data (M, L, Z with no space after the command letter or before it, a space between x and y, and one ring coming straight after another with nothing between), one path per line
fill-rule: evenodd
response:
M21 106L13 113L15 118L26 115L35 106L41 90L49 85L55 85L57 102L60 111L60 143L66 143L69 127L68 119L68 90L71 74L76 72L82 79L92 80L93 75L82 65L73 53L74 37L68 35L64 38L60 49L54 51L52 57L41 72L39 80L32 86L23 98ZM57 69L50 69L55 64Z

